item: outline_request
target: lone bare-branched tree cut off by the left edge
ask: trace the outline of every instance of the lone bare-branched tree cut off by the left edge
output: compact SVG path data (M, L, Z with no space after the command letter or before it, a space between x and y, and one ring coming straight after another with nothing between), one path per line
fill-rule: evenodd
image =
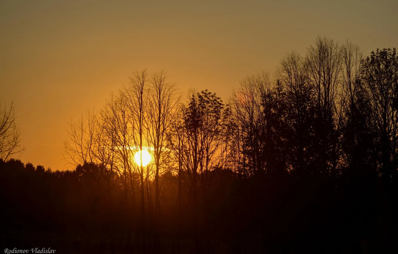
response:
M14 102L11 102L9 109L6 104L3 108L0 104L0 158L2 160L7 160L10 156L25 150L20 145L21 132L15 120Z

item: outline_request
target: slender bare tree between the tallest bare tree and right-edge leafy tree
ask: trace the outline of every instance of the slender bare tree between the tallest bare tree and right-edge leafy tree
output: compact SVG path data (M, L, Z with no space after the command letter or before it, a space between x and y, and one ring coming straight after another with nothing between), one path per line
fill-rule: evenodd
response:
M362 51L358 45L346 41L341 45L342 82L345 90L345 127L343 149L347 161L347 180L370 176L375 165L371 161L372 131L367 121L369 103L361 86Z

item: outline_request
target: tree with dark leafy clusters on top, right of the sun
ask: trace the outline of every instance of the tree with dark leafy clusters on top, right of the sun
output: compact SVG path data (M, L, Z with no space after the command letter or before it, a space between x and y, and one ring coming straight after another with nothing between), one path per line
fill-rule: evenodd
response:
M185 142L182 143L183 166L190 182L194 248L198 244L198 187L201 186L203 191L206 210L210 172L220 165L222 158L220 147L223 139L220 135L225 126L222 123L224 110L226 109L222 100L208 90L200 93L191 91L189 104L182 107L185 136Z

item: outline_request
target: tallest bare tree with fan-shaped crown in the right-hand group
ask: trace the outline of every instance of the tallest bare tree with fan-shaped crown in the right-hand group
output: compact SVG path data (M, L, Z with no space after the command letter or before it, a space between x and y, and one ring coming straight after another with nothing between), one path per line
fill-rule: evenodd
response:
M337 43L318 37L306 53L306 72L315 106L314 130L317 154L314 169L322 174L338 175L341 162L341 128L345 106L341 80L341 51Z

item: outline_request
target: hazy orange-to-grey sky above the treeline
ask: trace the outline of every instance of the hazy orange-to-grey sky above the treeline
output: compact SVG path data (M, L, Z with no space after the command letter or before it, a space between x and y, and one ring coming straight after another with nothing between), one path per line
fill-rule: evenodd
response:
M397 0L0 1L0 100L14 100L23 162L64 169L71 119L100 108L132 70L165 68L222 99L317 35L398 47Z

